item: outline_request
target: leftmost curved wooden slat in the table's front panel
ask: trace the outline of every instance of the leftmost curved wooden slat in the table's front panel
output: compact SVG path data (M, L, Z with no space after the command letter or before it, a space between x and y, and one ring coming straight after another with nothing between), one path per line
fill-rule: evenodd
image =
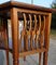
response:
M26 31L26 22L27 22L26 14L24 13L24 29L25 29L25 36L24 36L25 43L24 43L24 47L25 47L25 51L28 50L28 37L27 37L27 31Z

